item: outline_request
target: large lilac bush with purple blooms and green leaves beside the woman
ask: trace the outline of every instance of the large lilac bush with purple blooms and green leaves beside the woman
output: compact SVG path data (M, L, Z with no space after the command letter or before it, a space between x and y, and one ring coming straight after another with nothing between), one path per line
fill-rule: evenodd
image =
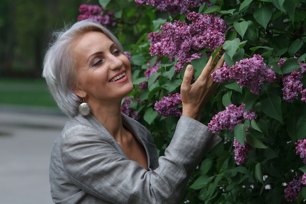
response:
M139 99L122 111L139 114L160 156L181 115L184 68L194 66L194 82L210 56L224 53L201 118L223 141L203 155L181 204L305 203L305 1L99 2L131 53L129 98Z

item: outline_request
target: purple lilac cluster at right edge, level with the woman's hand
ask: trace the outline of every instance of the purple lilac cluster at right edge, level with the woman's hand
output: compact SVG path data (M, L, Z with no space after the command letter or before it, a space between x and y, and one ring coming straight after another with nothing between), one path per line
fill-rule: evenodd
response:
M278 66L282 67L286 60L280 59ZM300 63L301 66L299 69L292 71L290 74L286 74L283 77L283 99L288 102L293 102L294 99L297 99L299 94L302 94L301 101L306 102L306 89L303 90L303 73L306 72L306 64Z

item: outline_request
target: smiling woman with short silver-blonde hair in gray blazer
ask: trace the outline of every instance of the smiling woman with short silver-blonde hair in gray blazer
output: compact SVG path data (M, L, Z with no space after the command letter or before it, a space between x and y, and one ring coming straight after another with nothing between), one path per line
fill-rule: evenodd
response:
M58 33L45 54L43 76L71 119L51 152L53 201L178 204L200 159L221 140L197 120L217 86L210 73L223 62L221 57L212 68L215 60L210 59L193 85L193 67L187 66L181 85L182 116L165 155L158 159L149 131L120 112L121 100L133 84L119 41L87 20Z

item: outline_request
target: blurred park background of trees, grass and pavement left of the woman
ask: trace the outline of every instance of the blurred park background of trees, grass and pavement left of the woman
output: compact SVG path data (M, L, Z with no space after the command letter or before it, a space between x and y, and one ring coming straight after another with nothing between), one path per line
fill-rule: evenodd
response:
M44 79L53 30L98 0L0 0L0 203L52 204L50 149L68 119Z

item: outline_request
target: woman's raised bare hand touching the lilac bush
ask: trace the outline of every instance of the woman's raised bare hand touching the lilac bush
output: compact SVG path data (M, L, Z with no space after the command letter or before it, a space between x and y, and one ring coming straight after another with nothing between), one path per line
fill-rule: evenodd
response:
M191 80L194 68L192 65L187 66L181 85L182 115L200 120L201 111L204 105L208 102L218 86L218 83L214 82L214 79L211 77L211 73L224 63L222 55L214 67L218 56L219 54L217 54L213 60L212 57L208 60L200 76L197 78L197 81L192 85Z

